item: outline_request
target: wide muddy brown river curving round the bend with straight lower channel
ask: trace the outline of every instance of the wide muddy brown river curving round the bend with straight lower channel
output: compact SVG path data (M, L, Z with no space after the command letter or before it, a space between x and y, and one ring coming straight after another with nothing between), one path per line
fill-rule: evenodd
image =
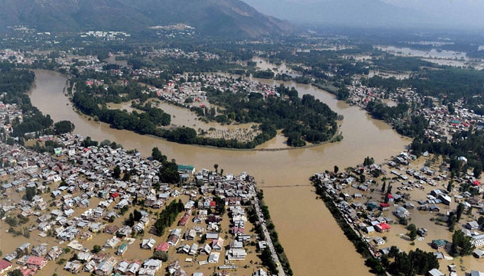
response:
M66 77L56 72L36 70L36 86L30 92L32 104L54 121L69 120L75 132L102 141L109 139L124 148L136 148L150 155L158 147L178 164L192 164L197 170L212 169L214 164L225 172L247 171L264 189L279 239L295 275L370 275L364 260L344 237L321 200L315 199L308 178L333 166L343 169L362 163L371 156L382 162L398 155L410 143L387 124L371 119L359 108L337 101L333 95L312 86L293 82L299 94L314 95L335 112L344 115L339 128L343 141L312 148L279 151L227 150L175 144L156 137L114 130L106 124L89 121L77 114L63 95ZM262 81L262 80L261 80ZM279 81L263 80L279 85ZM351 264L351 265L342 265Z

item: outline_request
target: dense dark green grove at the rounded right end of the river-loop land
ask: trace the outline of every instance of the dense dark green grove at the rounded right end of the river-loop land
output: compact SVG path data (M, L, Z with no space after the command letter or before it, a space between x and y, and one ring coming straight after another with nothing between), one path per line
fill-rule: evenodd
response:
M263 95L255 93L246 95L243 92L209 91L210 102L221 106L222 110L218 116L203 110L203 115L207 119L227 123L261 124L262 133L254 139L254 145L272 139L279 129L288 137L289 146L304 146L306 141L318 144L335 135L337 114L325 103L311 95L304 95L300 99L295 88L286 88L282 84L277 92L281 97L269 96L264 99Z

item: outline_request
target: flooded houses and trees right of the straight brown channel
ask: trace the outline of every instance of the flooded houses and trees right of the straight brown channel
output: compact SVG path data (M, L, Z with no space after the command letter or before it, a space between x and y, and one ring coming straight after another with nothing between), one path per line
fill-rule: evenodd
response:
M471 171L450 177L444 163L432 155L417 159L402 152L385 164L367 157L354 168L339 172L335 167L312 180L326 204L334 204L333 215L341 215L357 234L355 245L363 241L373 257L387 258L393 248L420 248L435 256L440 270L437 264L418 274L447 275L441 272L447 267L449 275L469 268L474 275L475 261L484 257L483 188Z

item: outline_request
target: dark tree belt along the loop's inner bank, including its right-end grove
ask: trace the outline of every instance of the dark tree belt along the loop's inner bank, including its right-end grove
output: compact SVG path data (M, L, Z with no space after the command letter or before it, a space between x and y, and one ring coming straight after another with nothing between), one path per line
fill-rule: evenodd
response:
M141 90L140 87L136 86L132 89ZM306 141L313 144L328 141L337 131L335 121L337 115L326 104L310 95L304 95L302 99L299 99L294 88L289 89L282 85L277 89L277 92L282 95L281 98L268 97L264 99L261 94L252 93L247 96L243 92L209 91L210 101L223 108L218 115L213 108L212 110L194 108L198 115L223 124L230 124L232 121L241 124L259 123L261 134L257 135L253 141L248 142L199 137L193 128L162 129L160 126L170 124L169 115L158 108L151 107L149 103L134 105L134 107L145 111L142 113L136 110L131 113L122 110L110 110L106 108L105 104L117 99L115 97L119 97L116 96L119 95L119 92L109 90L108 95L104 95L104 89L86 86L85 81L77 81L76 90L73 103L86 115L100 119L113 128L155 135L180 144L254 148L275 137L278 129L283 129L284 135L288 137L289 146L305 146ZM110 95L113 95L113 97ZM145 94L138 95L136 92L132 92L131 95L127 98L145 97Z

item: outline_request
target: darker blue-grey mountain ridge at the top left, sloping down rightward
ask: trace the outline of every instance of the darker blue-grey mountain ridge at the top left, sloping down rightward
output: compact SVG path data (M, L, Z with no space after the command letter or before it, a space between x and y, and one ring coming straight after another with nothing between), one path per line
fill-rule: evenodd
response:
M185 23L206 34L259 37L283 34L289 23L239 0L0 0L0 28L143 30Z

